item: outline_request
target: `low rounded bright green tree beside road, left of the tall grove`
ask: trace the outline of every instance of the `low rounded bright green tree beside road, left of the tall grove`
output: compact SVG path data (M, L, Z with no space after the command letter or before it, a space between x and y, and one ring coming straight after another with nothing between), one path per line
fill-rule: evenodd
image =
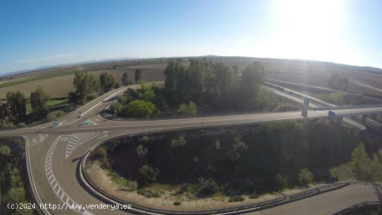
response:
M134 100L124 105L120 112L122 117L149 118L159 114L156 106L149 101Z

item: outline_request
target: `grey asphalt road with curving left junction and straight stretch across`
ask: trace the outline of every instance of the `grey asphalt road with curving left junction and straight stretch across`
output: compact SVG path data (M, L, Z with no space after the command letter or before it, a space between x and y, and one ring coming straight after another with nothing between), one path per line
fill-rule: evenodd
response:
M138 85L129 87L137 88ZM21 136L26 142L28 175L33 194L38 203L55 205L105 203L81 182L79 166L85 153L101 141L137 132L176 130L181 128L206 128L242 125L265 121L303 119L301 112L271 112L263 114L238 114L220 117L197 117L188 119L111 121L103 119L99 112L123 94L126 87L115 89L80 109L58 119L61 126L49 128L45 123L31 128L0 131L0 137ZM81 113L79 112L81 110ZM327 117L329 110L310 110L308 118ZM336 114L372 114L382 112L382 107L362 107L335 110ZM81 114L81 118L78 115ZM83 125L92 121L92 125ZM326 193L325 195L330 195ZM354 197L357 200L358 197ZM308 200L308 199L306 199ZM333 196L333 201L335 197ZM106 202L107 203L107 202ZM281 206L284 207L284 206ZM335 208L341 209L341 208ZM44 214L128 214L110 209L44 209ZM129 211L133 214L135 212Z

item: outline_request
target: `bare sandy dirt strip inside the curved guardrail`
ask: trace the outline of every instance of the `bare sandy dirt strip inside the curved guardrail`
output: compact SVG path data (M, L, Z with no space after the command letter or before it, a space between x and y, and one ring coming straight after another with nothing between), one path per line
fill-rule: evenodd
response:
M189 199L185 195L174 196L174 192L178 187L174 185L166 184L154 184L152 189L156 189L161 192L161 196L158 198L146 198L137 193L137 191L122 191L118 188L118 185L112 182L108 171L101 169L101 167L94 162L88 164L86 173L90 180L99 187L99 189L109 193L119 199L126 200L126 202L132 205L141 205L145 207L152 207L156 209L172 209L172 210L209 210L209 209L222 209L224 207L244 206L250 204L256 204L265 200L273 200L285 196L285 194L291 195L299 193L304 189L288 189L283 193L272 193L260 196L256 199L250 199L248 196L244 196L245 200L237 203L229 203L228 197L218 195L212 198L201 199ZM174 202L181 202L181 205L174 205Z

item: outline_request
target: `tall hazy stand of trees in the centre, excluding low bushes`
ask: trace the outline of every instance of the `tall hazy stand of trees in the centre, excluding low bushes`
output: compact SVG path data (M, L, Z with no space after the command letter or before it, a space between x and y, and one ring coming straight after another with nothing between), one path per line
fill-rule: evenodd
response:
M228 109L253 110L265 103L260 87L266 71L260 62L253 62L242 71L206 59L190 60L188 68L178 61L169 62L165 77L166 101L171 104L194 101Z

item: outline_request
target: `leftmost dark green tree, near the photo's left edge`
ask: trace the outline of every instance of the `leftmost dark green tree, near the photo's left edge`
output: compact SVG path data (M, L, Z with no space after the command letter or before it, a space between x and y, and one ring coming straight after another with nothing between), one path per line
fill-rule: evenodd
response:
M19 92L7 92L6 104L10 119L17 124L26 119L26 98L24 94Z

